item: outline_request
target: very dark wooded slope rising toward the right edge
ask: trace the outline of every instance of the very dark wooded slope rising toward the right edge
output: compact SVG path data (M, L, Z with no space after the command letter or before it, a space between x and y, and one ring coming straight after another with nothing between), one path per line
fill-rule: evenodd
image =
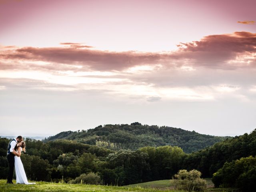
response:
M256 129L250 134L236 136L187 155L184 167L200 170L203 177L212 177L225 162L248 156L256 156Z

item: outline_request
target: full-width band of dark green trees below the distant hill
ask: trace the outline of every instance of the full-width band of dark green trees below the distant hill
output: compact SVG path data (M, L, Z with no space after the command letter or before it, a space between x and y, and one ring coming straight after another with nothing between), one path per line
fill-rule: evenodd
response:
M0 178L6 178L8 172L6 148L9 141L0 138ZM228 167L235 167L234 160L256 156L255 141L256 130L186 154L178 146L113 151L71 140L42 142L26 139L26 154L21 158L26 174L32 180L58 182L64 179L68 182L93 172L100 176L102 184L127 185L170 179L181 169L197 169L203 177L212 177L215 172L223 176L220 170L226 162L231 162ZM248 174L253 171L255 169ZM225 182L220 181L221 184Z

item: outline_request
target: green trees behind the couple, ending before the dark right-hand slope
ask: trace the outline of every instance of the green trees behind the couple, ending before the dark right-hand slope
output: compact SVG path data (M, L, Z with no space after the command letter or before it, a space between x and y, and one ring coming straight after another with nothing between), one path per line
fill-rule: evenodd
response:
M0 178L6 178L6 147L10 140L0 138ZM119 150L55 140L44 143L26 139L26 154L21 160L31 180L68 182L81 174L97 173L102 184L127 185L170 178L182 166L186 155L172 146L144 147L136 151Z

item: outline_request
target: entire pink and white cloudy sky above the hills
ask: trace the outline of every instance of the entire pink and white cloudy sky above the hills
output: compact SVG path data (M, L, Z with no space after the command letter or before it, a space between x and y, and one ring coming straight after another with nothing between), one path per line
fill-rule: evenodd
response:
M256 128L255 0L0 0L0 135Z

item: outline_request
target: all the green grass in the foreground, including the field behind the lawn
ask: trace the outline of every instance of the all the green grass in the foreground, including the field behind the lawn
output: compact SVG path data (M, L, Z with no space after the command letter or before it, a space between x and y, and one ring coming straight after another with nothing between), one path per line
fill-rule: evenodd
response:
M207 192L236 192L230 188L214 188L212 181L207 180ZM15 183L15 180L14 180ZM103 186L87 184L66 184L51 182L36 182L35 185L6 184L0 180L0 192L179 192L173 189L170 180L159 180L128 186ZM184 192L184 191L183 191Z

